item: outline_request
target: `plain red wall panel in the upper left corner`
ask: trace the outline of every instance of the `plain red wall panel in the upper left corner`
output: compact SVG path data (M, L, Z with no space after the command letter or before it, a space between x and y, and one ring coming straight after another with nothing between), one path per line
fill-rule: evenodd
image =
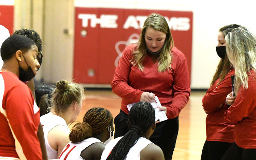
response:
M0 5L0 25L7 28L12 35L13 33L14 6Z

